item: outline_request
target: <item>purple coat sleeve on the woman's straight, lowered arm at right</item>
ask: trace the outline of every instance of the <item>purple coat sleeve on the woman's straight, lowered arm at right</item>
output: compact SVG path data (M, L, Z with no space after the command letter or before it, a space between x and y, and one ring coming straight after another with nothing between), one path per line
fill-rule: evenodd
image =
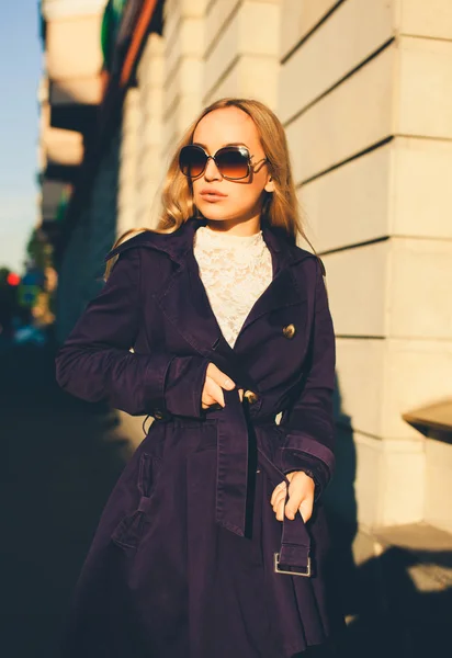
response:
M336 343L326 285L317 261L314 326L306 370L296 401L283 413L282 470L304 470L321 495L335 470Z

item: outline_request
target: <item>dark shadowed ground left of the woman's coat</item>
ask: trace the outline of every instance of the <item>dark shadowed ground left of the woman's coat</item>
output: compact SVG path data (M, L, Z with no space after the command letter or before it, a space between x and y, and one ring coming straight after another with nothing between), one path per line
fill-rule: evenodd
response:
M56 658L99 515L129 453L115 416L54 382L53 350L0 353L4 658Z

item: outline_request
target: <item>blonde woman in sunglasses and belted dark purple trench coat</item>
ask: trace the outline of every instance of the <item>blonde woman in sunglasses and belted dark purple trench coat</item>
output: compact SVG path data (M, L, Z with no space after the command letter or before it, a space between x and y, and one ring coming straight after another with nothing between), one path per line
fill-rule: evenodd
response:
M280 121L223 99L181 140L159 226L106 256L57 379L155 420L102 514L65 656L332 655L335 337L297 234Z

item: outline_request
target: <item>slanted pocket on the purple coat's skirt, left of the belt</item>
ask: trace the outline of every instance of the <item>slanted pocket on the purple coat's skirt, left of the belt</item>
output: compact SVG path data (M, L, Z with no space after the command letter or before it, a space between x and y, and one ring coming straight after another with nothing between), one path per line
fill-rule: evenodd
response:
M161 457L143 452L139 457L136 509L124 517L113 531L112 541L124 548L137 548L146 522L149 521L154 490L160 470Z

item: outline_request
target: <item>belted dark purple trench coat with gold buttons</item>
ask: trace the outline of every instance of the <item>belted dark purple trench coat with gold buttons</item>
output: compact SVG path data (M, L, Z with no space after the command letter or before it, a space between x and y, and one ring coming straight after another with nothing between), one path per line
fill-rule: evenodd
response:
M342 620L327 587L335 336L320 261L263 223L273 280L231 348L193 254L200 225L112 250L56 358L72 395L155 418L101 517L66 657L289 658ZM201 406L208 362L237 384L222 409ZM294 469L316 483L306 525L269 502Z

